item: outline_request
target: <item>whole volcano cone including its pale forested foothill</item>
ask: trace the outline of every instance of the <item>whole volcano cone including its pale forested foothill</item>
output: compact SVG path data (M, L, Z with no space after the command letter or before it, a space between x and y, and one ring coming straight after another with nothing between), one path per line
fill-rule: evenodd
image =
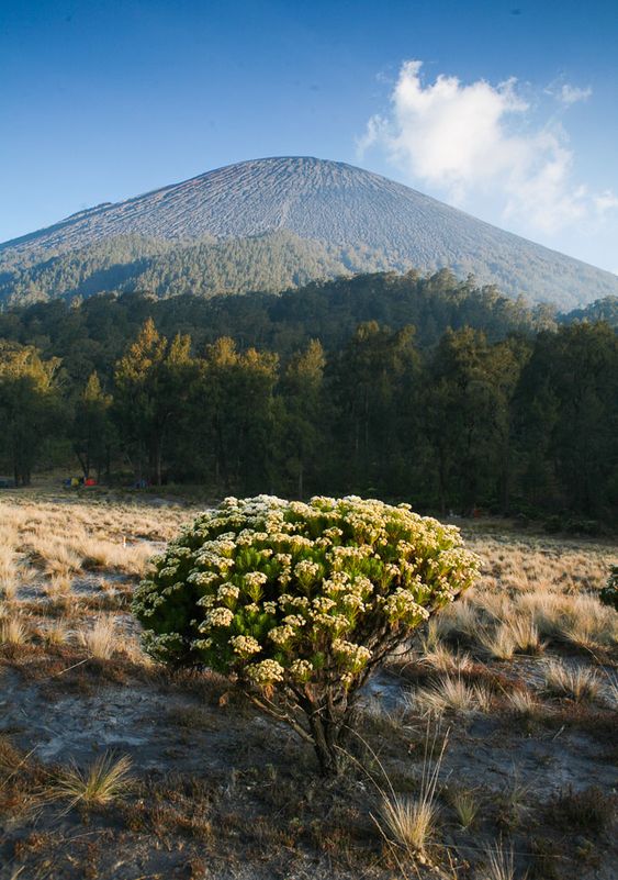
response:
M103 291L279 292L355 272L449 268L562 310L618 277L342 163L245 161L0 245L0 302Z

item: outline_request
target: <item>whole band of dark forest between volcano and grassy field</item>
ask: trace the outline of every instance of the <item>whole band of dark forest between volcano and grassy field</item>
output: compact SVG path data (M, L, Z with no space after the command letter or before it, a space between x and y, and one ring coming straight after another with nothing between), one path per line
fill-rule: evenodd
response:
M607 300L555 315L446 270L12 309L0 467L20 484L79 466L213 494L356 492L611 523L616 314Z

